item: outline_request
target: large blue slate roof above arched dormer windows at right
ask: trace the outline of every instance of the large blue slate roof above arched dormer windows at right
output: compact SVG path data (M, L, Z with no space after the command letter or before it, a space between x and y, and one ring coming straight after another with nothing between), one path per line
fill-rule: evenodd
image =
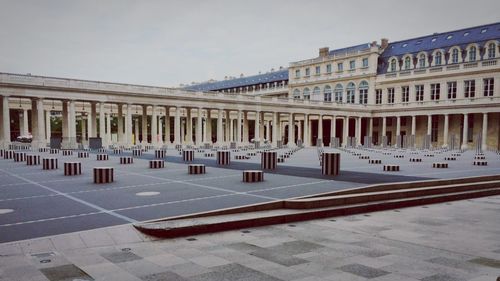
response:
M452 46L463 48L470 43L484 43L494 39L500 39L500 22L392 42L381 57L388 58L436 49L447 50Z

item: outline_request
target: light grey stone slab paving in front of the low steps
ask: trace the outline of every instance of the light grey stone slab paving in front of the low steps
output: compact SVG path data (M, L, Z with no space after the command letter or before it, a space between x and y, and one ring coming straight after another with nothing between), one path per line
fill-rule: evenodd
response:
M500 276L500 196L171 240L130 224L0 244L0 280Z

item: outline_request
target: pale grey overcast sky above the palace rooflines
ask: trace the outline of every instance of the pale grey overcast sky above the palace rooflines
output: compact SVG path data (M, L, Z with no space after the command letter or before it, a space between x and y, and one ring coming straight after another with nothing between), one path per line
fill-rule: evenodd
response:
M0 72L178 87L499 11L498 0L0 0Z

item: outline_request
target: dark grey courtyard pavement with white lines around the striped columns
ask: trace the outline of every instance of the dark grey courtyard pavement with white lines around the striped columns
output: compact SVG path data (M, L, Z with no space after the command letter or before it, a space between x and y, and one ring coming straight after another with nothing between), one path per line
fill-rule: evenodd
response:
M326 148L325 151L338 151ZM444 162L451 152L434 151L411 154L399 150L340 151L341 175L321 175L316 149L296 152L279 168L266 172L265 182L243 183L243 169L260 168L260 155L248 160L231 160L225 168L216 166L215 158L196 153L195 163L205 163L205 175L188 175L187 164L175 150L168 150L164 169L149 169L150 151L134 159L131 165L120 165L110 153L108 161L56 155L59 169L44 171L41 166L25 162L0 160L0 242L18 241L48 235L95 229L162 217L204 212L220 208L268 202L332 190L381 182L414 181L431 178L453 178L500 173L500 156L485 153L488 166L473 166L474 152L468 151L447 161L448 169L433 169L433 162ZM398 164L400 172L383 172L381 165L368 164L352 152L381 159L383 164ZM237 152L235 154L246 154ZM54 156L39 153L44 156ZM124 152L122 155L130 155ZM404 158L394 158L404 155ZM420 157L423 162L409 162ZM83 174L63 175L63 162L81 161ZM94 184L92 167L115 168L115 182Z

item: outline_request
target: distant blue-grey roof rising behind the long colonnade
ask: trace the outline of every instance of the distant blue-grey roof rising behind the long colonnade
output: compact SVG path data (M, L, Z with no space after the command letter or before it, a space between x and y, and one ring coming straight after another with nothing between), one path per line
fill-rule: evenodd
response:
M261 83L280 82L284 80L288 81L288 69L283 69L248 77L234 78L224 81L200 83L196 85L187 86L184 89L193 91L217 91L222 89L245 87Z

